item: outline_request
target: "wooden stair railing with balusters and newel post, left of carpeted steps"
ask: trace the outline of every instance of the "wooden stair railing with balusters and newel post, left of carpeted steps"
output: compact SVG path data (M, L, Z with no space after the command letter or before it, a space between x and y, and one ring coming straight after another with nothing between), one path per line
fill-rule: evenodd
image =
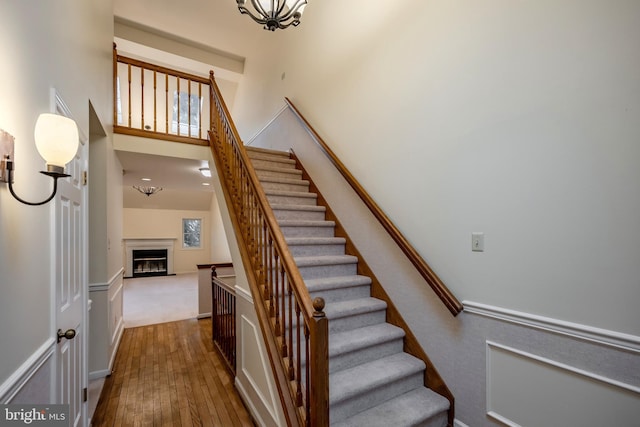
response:
M235 128L213 72L210 144L290 426L329 425L329 331Z

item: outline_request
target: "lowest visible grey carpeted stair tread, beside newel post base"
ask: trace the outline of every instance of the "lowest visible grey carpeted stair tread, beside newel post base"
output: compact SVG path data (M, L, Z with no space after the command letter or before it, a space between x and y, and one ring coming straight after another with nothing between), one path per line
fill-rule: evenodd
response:
M426 387L416 388L378 406L360 412L334 427L415 426L449 409L449 401Z

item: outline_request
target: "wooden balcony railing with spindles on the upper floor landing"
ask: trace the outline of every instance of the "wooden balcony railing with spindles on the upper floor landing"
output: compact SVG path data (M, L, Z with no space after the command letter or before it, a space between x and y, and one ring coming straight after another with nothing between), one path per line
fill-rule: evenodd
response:
M113 47L114 132L209 145L209 79L126 56Z

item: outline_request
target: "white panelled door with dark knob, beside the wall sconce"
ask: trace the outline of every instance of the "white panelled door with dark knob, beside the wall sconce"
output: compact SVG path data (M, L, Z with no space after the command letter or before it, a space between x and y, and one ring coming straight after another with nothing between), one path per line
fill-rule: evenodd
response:
M88 164L86 145L81 141L78 154L66 167L71 177L58 181L53 206L55 326L59 333L68 334L59 339L57 346L56 395L57 403L69 404L71 426L87 424L87 186L83 182Z

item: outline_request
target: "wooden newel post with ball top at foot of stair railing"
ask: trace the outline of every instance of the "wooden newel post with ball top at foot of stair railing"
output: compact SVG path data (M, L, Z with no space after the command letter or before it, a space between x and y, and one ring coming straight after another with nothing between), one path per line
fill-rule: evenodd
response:
M313 299L313 339L311 348L310 419L307 425L329 425L329 319L324 313L324 299Z

